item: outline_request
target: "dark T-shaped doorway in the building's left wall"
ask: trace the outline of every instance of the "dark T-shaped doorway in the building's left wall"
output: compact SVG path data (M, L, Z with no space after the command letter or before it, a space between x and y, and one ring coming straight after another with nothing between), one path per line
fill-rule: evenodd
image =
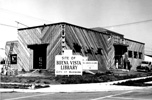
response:
M33 69L46 69L46 52L48 44L28 45L33 50Z

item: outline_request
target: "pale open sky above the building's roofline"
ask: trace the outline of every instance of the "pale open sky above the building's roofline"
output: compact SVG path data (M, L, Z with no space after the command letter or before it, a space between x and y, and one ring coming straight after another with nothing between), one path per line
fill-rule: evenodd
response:
M152 54L151 12L152 0L0 0L0 48L17 40L17 28L24 25L67 22L123 34L145 43L146 54Z

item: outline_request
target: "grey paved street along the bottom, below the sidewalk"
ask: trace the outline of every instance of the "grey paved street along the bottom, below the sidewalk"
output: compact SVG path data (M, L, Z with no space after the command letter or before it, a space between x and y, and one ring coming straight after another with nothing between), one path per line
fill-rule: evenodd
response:
M151 100L152 87L131 91L78 93L0 93L1 100Z

